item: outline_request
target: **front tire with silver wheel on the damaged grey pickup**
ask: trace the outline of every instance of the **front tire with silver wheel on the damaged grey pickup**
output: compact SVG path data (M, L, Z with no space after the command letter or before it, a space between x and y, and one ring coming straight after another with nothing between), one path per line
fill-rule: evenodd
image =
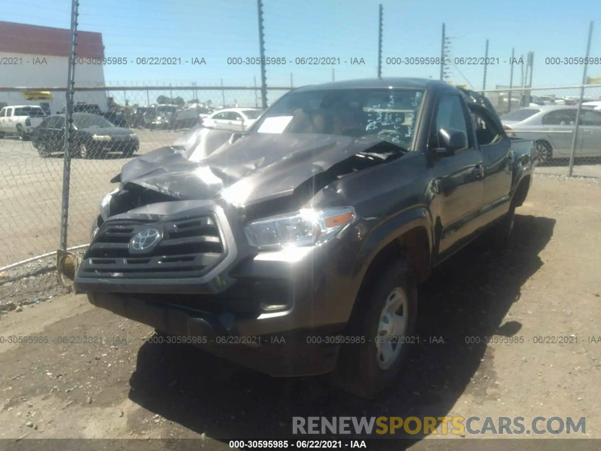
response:
M343 390L371 398L394 384L410 352L412 342L404 339L415 333L417 288L413 271L404 260L392 262L364 285L356 299L348 334L365 337L365 343L343 345L332 376ZM397 316L403 320L396 326L391 322L394 305L401 306L396 313L403 313Z

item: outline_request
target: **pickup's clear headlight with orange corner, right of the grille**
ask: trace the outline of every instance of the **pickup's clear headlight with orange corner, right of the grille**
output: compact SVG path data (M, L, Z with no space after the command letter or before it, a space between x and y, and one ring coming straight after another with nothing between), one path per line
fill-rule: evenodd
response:
M302 209L253 221L244 231L249 242L260 250L314 246L333 238L353 218L355 210L352 207Z

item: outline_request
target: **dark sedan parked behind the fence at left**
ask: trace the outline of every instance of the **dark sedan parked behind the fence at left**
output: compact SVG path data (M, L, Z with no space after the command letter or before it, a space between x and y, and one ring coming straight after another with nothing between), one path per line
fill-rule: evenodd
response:
M46 117L31 132L31 141L41 157L63 152L65 143L65 115ZM120 152L126 158L138 151L136 133L117 127L105 117L91 113L73 114L73 156L97 158L109 152Z

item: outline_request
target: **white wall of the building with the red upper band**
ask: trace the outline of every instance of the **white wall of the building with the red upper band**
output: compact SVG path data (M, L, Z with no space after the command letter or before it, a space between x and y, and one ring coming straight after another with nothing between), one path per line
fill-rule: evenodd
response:
M102 64L85 64L89 58L78 58L83 64L75 66L75 85L104 86L105 74ZM0 52L0 87L25 88L64 88L67 86L69 58L44 55L10 54ZM13 64L7 64L13 63ZM45 89L49 91L49 89ZM40 105L50 103L50 112L55 114L66 105L66 93L54 91L52 100L31 102L23 98L22 91L0 91L0 102L8 105ZM75 102L93 103L102 111L108 109L106 91L88 91L75 93Z

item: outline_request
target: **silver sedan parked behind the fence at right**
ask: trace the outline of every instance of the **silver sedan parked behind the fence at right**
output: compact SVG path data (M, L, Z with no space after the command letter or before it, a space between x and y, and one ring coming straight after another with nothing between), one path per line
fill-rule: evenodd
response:
M584 106L584 104L583 104ZM540 162L569 158L578 105L543 105L516 109L501 116L508 135L534 141ZM601 157L601 111L582 108L576 156Z

